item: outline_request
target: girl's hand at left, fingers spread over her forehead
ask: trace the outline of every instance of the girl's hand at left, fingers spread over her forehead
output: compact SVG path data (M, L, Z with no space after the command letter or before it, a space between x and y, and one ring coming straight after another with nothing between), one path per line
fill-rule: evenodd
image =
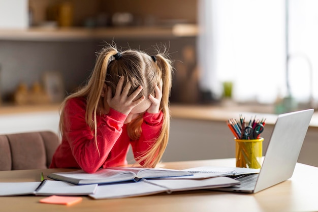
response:
M131 84L127 83L125 87L122 89L123 80L124 77L121 76L116 86L116 92L114 97L112 97L111 89L108 88L107 103L109 107L113 108L114 110L128 115L136 105L139 105L141 102L145 100L145 97L143 96L134 101L134 99L141 92L142 86L139 86L130 96L128 96Z

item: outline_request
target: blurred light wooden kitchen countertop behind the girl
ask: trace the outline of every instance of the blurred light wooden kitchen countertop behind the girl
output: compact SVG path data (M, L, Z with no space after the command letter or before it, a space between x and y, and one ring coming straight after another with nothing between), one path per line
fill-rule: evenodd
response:
M0 115L18 113L58 112L59 103L47 105L0 105ZM229 118L239 119L242 114L249 120L251 117L266 118L266 124L274 125L277 114L270 105L181 105L171 104L171 117L197 120L214 120L226 122ZM318 112L312 116L310 127L318 127Z

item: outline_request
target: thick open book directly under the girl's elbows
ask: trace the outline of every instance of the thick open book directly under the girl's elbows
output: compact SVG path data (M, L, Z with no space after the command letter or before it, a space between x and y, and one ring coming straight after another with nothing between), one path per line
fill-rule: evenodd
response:
M95 173L86 173L83 170L70 172L55 172L48 175L49 178L67 181L76 185L108 184L122 181L139 181L142 178L163 178L192 175L187 171L164 168L136 168L113 167L99 169Z

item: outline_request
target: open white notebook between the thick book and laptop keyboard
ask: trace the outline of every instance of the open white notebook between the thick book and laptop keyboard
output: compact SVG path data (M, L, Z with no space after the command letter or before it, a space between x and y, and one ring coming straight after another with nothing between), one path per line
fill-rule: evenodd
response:
M233 176L242 174L260 173L260 169L241 168L241 167L226 167L226 166L200 166L189 169L183 169L192 173L189 176L177 176L175 179L204 179L217 176Z

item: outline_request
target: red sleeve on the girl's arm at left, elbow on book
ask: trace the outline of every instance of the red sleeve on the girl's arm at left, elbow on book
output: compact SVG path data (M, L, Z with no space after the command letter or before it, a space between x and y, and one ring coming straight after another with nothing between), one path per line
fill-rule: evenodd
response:
M96 172L107 159L122 133L126 115L110 109L97 117L97 144L94 131L85 122L86 103L69 100L65 106L63 134L78 165L87 173Z

